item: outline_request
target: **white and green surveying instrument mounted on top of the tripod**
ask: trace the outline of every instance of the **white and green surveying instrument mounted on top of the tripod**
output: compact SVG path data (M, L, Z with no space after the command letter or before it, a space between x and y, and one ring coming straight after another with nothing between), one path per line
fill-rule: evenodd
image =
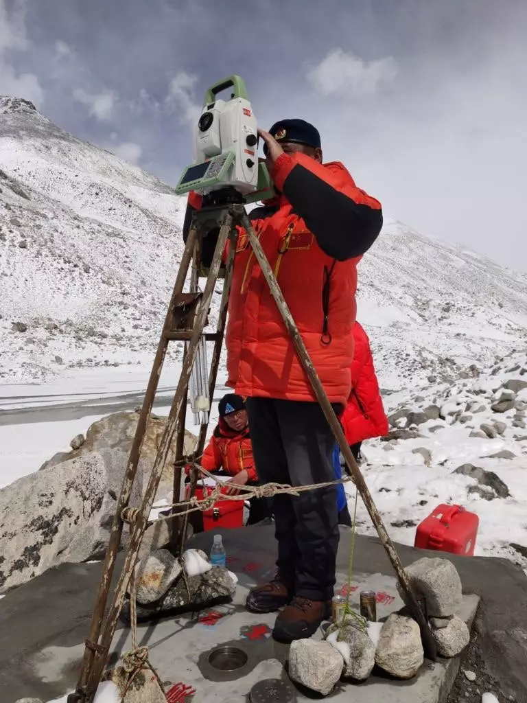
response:
M231 87L228 100L216 98ZM185 169L175 191L208 195L226 188L238 191L245 202L271 195L267 169L258 160L256 117L245 83L235 75L207 90L194 128L194 163Z

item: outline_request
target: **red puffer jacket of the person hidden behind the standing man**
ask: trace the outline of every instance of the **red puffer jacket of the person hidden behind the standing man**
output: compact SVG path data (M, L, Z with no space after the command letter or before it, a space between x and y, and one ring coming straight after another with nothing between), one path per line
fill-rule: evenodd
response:
M355 352L351 364L351 394L340 421L348 444L388 434L379 382L373 366L370 340L363 327L353 325Z

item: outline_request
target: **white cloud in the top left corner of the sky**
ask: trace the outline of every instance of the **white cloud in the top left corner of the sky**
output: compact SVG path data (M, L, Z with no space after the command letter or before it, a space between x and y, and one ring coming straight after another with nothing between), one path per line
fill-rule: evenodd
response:
M8 14L0 0L0 94L26 98L39 105L44 100L39 79L34 73L19 73L6 57L6 51L26 51L29 44L25 30L26 4L15 0Z

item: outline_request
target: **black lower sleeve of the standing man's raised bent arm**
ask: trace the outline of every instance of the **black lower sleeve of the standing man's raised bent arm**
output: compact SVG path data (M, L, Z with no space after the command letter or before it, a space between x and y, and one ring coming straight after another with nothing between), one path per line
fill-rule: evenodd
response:
M325 254L346 261L367 252L382 228L382 209L356 203L313 172L297 164L288 174L284 195Z

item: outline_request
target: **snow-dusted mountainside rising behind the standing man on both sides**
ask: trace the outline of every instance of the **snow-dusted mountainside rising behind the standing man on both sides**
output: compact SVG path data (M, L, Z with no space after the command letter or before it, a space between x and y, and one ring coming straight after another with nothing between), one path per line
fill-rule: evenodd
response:
M0 169L0 380L150 365L184 200L18 98L0 98ZM387 220L359 264L358 317L382 387L448 380L526 340L527 276Z

